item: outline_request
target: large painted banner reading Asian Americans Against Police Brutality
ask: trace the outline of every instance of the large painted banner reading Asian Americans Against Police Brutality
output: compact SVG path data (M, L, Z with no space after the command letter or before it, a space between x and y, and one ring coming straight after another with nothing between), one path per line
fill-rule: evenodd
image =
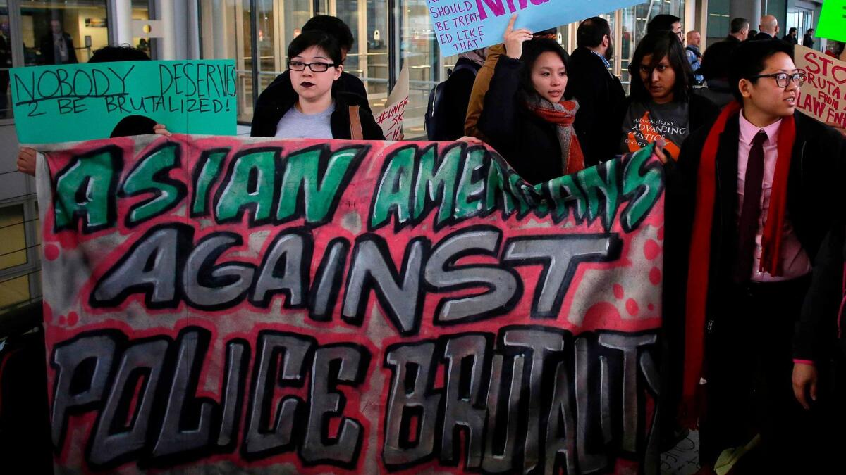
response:
M145 136L40 157L56 464L657 473L663 172Z

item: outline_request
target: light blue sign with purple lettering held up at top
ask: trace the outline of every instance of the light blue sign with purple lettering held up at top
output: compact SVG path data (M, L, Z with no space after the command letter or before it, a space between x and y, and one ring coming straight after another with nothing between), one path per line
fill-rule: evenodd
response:
M503 42L505 27L546 30L607 14L638 0L427 0L432 30L442 56L453 56Z

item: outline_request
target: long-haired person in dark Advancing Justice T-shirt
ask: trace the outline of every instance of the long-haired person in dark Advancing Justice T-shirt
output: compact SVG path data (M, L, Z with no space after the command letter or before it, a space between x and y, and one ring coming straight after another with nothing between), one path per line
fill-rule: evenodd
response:
M629 153L661 138L663 153L678 158L690 132L717 116L719 109L692 93L692 73L678 36L670 30L648 33L629 63L631 92L622 124L620 152Z

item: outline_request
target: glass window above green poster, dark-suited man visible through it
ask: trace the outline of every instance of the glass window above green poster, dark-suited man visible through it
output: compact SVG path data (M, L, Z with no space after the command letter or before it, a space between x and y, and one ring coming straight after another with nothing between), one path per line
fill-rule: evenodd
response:
M25 64L85 63L108 45L107 0L25 2L20 8Z

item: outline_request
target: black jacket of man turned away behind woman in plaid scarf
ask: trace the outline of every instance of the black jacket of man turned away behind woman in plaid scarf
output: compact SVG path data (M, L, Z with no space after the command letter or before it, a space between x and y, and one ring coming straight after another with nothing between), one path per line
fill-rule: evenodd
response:
M626 93L601 57L587 48L576 48L570 56L565 96L579 101L573 127L579 135L585 167L618 155L620 128L608 124L623 122Z

